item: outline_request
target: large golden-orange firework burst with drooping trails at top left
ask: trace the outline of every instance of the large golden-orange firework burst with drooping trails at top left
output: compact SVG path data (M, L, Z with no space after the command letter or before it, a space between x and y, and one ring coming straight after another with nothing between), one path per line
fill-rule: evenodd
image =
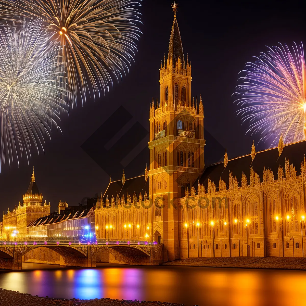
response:
M35 17L63 46L60 60L67 62L71 101L113 86L128 70L139 29L134 0L17 0L2 1L2 18Z

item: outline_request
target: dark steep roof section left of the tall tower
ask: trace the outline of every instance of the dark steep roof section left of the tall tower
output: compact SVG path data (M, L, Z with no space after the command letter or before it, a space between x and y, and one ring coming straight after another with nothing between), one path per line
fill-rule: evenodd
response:
M149 196L149 177L147 178L147 181L145 179L145 175L132 177L126 179L124 185L122 180L110 182L102 197L103 202L105 203L106 197L108 197L108 199L111 201L112 196L114 196L114 199L116 200L117 194L120 199L122 195L124 195L126 199L128 192L131 198L133 198L134 192L136 192L137 199L139 197L140 192L142 196L144 196L145 192L147 192L147 195Z

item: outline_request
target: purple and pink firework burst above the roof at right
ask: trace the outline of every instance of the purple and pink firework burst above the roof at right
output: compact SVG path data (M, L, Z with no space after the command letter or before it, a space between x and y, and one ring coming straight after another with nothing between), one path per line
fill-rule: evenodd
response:
M269 48L255 63L247 63L238 80L236 102L248 132L260 132L261 140L297 142L306 136L306 80L302 43Z

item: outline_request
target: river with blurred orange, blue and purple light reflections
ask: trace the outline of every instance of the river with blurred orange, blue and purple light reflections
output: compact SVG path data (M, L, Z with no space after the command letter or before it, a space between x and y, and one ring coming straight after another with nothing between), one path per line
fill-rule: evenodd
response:
M304 305L304 271L203 267L105 266L94 269L24 270L0 273L0 287L55 298L175 302L185 305Z

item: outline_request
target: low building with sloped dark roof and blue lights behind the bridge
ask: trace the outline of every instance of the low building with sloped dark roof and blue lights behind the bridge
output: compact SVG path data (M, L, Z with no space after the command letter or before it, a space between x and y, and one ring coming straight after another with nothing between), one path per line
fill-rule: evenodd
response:
M69 239L80 240L95 236L94 208L87 205L68 206L58 203L58 211L32 221L28 237L33 240Z

